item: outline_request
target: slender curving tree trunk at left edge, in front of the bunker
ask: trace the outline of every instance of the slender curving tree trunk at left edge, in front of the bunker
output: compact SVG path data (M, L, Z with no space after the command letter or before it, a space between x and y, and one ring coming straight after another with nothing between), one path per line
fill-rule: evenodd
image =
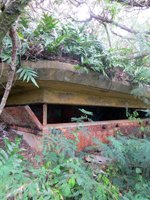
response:
M10 70L8 72L8 80L5 88L4 95L0 103L0 115L6 105L9 93L12 88L15 72L16 72L16 59L17 59L17 42L16 42L16 30L13 28L14 22L17 20L24 7L31 0L11 0L6 7L2 9L0 14L0 49L2 49L2 41L10 30L10 36L12 38L12 62ZM0 0L2 4L2 0Z

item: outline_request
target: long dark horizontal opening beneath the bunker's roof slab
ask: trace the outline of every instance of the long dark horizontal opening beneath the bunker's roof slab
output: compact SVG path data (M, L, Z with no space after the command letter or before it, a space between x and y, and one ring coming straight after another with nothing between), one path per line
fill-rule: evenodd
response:
M82 109L92 113L88 118L94 122L128 119L129 116L134 117L135 112L138 113L139 118L146 118L144 112L125 107L34 104L30 105L30 108L42 124L44 118L47 124L71 123L73 118L80 118L85 115L81 112Z

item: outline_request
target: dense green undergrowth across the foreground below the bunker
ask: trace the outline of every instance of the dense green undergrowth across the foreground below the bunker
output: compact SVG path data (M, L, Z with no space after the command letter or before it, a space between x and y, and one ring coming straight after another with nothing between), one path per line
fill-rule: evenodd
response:
M21 156L19 138L13 143L4 137L0 199L148 200L150 140L149 130L141 130L136 137L118 134L109 144L100 144L99 154L111 159L105 169L87 164L86 152L76 153L76 131L72 133L75 141L55 129L51 137L45 137L36 167Z

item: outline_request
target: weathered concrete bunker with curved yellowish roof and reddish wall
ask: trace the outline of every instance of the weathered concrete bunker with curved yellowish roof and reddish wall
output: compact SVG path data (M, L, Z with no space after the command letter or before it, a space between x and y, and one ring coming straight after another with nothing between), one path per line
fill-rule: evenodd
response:
M79 73L74 65L58 61L24 64L37 70L39 88L16 77L1 118L14 129L26 132L25 135L33 133L27 135L32 146L37 141L36 136L50 133L50 128L63 130L69 135L77 126L71 118L81 116L79 108L93 112L93 122L83 125L90 134L78 133L80 150L92 144L92 137L106 142L107 137L117 131L137 133L141 122L127 120L126 108L131 113L136 109L149 108L131 94L135 86L111 81L99 73ZM7 67L4 66L6 72ZM5 82L4 77L2 83ZM145 97L150 99L150 88L145 88L145 91ZM0 97L2 94L0 86ZM144 113L139 114L144 117ZM144 119L142 123L147 125L149 120Z

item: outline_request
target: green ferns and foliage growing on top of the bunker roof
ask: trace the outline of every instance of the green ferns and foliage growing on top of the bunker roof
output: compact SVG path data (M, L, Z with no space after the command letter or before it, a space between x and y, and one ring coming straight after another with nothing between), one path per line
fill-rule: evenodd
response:
M108 48L97 33L91 32L88 23L62 23L53 16L44 14L35 24L29 17L22 16L17 33L20 44L18 68L21 67L18 73L23 80L29 77L28 81L33 81L36 77L28 69L30 66L22 66L23 59L48 59L71 62L77 70L87 73L93 70L125 84L149 84L150 70L148 66L144 66L149 57L131 60L128 58L133 52L130 47ZM144 45L149 49L149 42ZM1 56L3 62L11 62L11 48L11 39L7 36Z

